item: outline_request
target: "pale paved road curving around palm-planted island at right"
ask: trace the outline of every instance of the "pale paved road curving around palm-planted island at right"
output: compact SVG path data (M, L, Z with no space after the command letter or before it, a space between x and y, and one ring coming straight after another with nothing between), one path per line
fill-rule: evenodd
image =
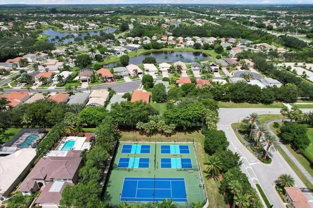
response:
M312 109L303 109L304 112L312 111ZM258 159L246 149L246 147L237 139L234 131L231 129L230 124L238 122L249 115L249 113L259 113L259 114L280 114L280 109L258 109L258 108L221 108L220 109L220 122L218 123L218 129L223 130L226 137L230 143L229 149L233 152L238 152L242 158L243 165L241 169L247 174L251 185L255 187L258 183L261 185L262 189L265 191L269 202L274 208L285 208L280 197L274 189L275 180L282 173L291 174L295 179L295 186L299 188L306 187L298 176L291 170L288 163L279 154L278 151L272 152L270 156L272 157L272 163L270 165L265 165L260 163ZM311 207L313 207L313 196L306 194L310 202Z

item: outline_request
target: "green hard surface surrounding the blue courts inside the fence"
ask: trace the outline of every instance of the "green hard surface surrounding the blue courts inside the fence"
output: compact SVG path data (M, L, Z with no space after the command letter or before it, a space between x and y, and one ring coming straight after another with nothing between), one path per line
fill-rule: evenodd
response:
M118 205L120 203L119 197L122 192L124 177L148 177L151 178L152 181L154 181L154 177L156 178L184 178L185 180L185 191L188 199L188 203L192 202L203 202L205 197L203 193L203 189L199 186L200 183L200 174L198 171L196 156L194 153L194 146L193 143L179 143L175 144L177 145L188 145L189 147L189 154L161 154L160 147L161 145L174 145L174 143L143 143L142 145L150 145L150 153L121 153L123 145L135 145L137 147L137 144L134 143L123 143L121 142L118 147L117 154L115 156L113 170L110 176L110 181L107 188L107 195L105 198L110 197L112 205ZM139 144L138 144L139 145ZM150 158L149 162L149 168L132 168L134 166L133 164L129 164L130 168L117 168L119 159L123 158ZM192 168L190 169L183 169L183 168L161 168L161 158L176 158L180 160L180 158L190 158L192 161ZM155 161L156 160L156 161ZM175 165L181 165L174 163ZM173 163L172 163L173 165ZM188 170L194 170L194 172L189 172ZM197 177L195 177L197 176ZM163 182L164 184L164 182ZM163 185L162 184L162 185ZM172 183L171 186L174 186ZM137 184L138 186L138 184ZM127 187L128 189L131 189L131 187ZM147 189L146 191L149 191L153 189L153 192L156 193L157 197L157 191L158 188L154 188L154 186L150 186L150 189ZM140 189L136 189L136 191L139 192ZM160 191L160 190L159 190ZM166 191L166 190L161 190ZM178 190L176 190L178 191ZM139 193L138 194L139 196ZM137 196L137 197L138 197ZM153 195L146 195L145 197L151 198L153 200ZM161 200L159 200L161 201ZM134 202L127 202L129 204L132 204ZM140 203L140 202L139 202ZM141 202L142 204L146 204L147 202ZM177 205L185 206L186 202L175 202Z

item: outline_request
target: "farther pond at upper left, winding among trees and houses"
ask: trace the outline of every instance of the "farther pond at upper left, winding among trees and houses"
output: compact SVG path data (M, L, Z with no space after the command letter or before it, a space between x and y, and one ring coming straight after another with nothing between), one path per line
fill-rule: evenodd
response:
M108 26L108 25L106 25L106 28L107 29L102 30L104 33L113 33L116 30L115 27L111 27L111 26ZM56 36L59 36L60 38L63 38L63 37L66 37L67 35L74 35L74 38L76 38L77 36L79 36L79 34L81 34L82 35L81 37L84 38L87 34L89 34L90 36L92 36L92 35L99 35L100 31L92 31L91 30L90 32L64 32L63 33L63 32L54 31L51 28L51 29L48 29L48 30L44 30L40 34L44 34L44 35L50 36L48 38L48 40L50 41L52 38L55 38ZM65 39L63 42L64 43L75 42L74 38Z

